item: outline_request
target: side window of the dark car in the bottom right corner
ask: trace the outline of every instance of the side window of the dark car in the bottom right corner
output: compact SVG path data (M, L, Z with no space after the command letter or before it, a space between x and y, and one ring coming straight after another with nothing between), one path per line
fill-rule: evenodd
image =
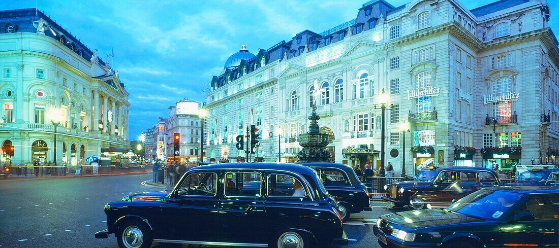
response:
M534 194L523 205L515 211L530 212L534 215L534 221L559 220L559 195L558 194Z

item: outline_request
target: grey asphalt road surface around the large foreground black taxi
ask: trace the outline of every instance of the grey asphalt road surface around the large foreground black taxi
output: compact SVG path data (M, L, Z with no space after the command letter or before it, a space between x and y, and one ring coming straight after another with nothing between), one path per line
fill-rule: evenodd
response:
M118 247L113 236L93 236L106 228L103 206L129 192L160 190L140 184L150 178L151 174L0 180L0 247ZM373 202L372 207L345 223L350 242L339 247L380 247L372 227L378 216L392 210L384 202Z

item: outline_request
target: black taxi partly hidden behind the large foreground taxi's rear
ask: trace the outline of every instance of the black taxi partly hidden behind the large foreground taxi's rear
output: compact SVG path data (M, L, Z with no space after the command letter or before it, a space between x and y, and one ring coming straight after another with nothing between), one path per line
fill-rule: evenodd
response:
M319 178L334 198L338 201L340 215L349 220L352 213L371 211L371 202L367 187L347 164L339 163L302 163L319 174Z

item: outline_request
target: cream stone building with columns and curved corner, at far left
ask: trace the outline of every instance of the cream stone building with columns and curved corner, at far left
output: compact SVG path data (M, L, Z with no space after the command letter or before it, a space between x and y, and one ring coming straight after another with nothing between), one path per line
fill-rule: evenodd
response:
M0 12L0 70L3 163L75 166L129 146L129 93L110 56L101 60L44 13Z

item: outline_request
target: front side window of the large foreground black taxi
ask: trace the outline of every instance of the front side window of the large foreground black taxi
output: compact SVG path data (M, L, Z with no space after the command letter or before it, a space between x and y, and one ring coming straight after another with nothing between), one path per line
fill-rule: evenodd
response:
M217 174L200 172L189 174L178 187L177 193L188 196L215 196Z

